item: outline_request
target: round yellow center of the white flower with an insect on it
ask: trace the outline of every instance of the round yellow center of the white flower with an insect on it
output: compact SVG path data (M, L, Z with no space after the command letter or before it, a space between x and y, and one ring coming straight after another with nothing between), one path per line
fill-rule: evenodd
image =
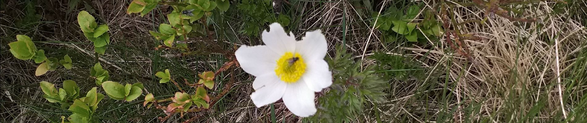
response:
M275 75L285 83L298 82L304 72L306 72L306 64L298 53L285 52L275 66Z

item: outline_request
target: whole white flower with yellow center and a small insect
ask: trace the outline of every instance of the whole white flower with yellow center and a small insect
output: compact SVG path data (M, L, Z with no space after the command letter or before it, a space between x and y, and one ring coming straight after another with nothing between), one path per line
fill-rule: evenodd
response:
M320 30L309 31L301 41L285 33L279 23L263 31L265 45L243 46L235 52L242 69L257 77L251 99L262 107L283 99L300 117L316 113L314 92L332 85L332 72L324 61L328 44Z

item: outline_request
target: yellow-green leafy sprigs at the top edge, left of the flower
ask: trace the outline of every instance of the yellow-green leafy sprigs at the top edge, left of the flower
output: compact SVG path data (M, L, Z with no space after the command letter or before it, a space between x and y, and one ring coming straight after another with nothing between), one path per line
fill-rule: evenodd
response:
M134 0L130 3L127 13L140 12L141 16L144 16L157 5L158 0ZM230 2L228 0L188 0L169 5L173 7L173 11L167 14L169 24L161 23L158 32L149 31L149 33L157 40L163 40L163 44L167 47L173 47L174 41L185 40L188 38L187 34L192 32L205 36L202 25L194 22L203 16L212 15L212 10L215 8L225 12L230 7ZM176 46L182 50L188 50L187 44L178 43Z

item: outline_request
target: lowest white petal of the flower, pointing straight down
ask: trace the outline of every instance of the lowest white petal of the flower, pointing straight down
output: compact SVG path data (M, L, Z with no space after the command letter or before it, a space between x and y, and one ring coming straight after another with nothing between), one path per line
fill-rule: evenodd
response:
M305 82L288 84L282 99L289 111L299 117L308 117L316 113L314 92L308 89Z

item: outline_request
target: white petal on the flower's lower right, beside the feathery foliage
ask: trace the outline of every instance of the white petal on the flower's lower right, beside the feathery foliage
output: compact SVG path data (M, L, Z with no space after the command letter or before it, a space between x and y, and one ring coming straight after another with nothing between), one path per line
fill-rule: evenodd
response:
M328 70L326 61L311 61L308 62L308 68L302 79L310 90L321 92L322 89L332 85L332 72Z

